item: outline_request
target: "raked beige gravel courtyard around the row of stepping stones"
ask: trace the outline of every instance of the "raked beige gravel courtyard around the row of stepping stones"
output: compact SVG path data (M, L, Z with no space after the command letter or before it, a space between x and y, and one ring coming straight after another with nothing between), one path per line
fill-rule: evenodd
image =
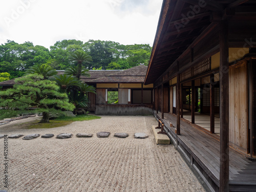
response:
M153 116L101 116L101 119L73 122L53 129L12 129L0 126L0 134L54 134L53 138L8 139L8 192L20 191L205 191L173 145L156 145ZM98 138L98 132L110 132ZM125 132L127 138L116 138ZM144 132L149 137L135 139ZM72 133L69 139L56 139ZM92 138L77 138L91 133ZM4 139L0 139L0 190L5 189Z

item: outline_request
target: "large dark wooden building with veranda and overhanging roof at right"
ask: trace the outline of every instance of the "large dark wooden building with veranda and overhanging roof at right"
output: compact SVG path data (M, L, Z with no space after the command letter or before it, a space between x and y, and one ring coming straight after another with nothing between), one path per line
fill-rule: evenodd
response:
M256 191L255 26L255 1L163 1L144 84L212 191Z

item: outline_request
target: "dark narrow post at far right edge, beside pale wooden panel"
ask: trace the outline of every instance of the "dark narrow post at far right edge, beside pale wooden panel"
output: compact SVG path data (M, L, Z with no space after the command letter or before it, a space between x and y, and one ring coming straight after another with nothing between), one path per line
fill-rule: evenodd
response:
M249 141L250 141L250 157L253 156L253 68L252 68L252 60L250 59L248 63L248 84L249 84L249 90L248 90L248 106L249 106L249 113L248 113L248 124L249 124ZM255 102L255 101L254 101Z

